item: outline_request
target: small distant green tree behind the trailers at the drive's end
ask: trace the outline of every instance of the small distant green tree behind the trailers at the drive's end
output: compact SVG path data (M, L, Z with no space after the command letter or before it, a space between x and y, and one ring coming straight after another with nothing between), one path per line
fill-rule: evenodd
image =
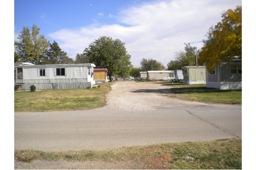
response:
M156 70L164 70L164 66L160 61L156 61L154 59L142 59L140 61L141 70L142 71L156 71Z

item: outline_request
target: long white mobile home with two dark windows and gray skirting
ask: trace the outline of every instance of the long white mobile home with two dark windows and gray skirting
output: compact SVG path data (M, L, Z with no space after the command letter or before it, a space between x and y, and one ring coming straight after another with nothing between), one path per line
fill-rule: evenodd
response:
M88 88L95 84L93 80L94 64L56 64L31 65L14 63L15 84L22 90Z

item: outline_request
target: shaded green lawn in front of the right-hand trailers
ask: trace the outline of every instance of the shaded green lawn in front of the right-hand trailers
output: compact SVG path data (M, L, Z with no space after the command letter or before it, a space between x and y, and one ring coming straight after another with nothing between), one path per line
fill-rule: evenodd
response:
M156 82L171 87L165 96L188 101L224 104L242 104L242 90L219 90L206 88L206 84L183 84L181 82Z

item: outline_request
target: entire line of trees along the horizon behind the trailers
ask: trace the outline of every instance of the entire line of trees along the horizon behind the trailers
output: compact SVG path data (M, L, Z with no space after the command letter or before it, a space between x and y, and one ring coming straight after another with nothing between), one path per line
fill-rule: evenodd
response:
M32 25L18 35L14 41L14 62L27 62L36 65L94 63L98 68L107 68L108 75L118 75L126 78L138 77L140 71L175 70L183 66L206 65L207 70L214 69L221 61L232 63L235 56L242 59L242 6L228 9L222 13L222 21L211 26L202 40L203 47L196 51L190 43L184 43L184 50L175 52L175 59L167 67L155 59L142 59L141 67L133 67L131 55L127 53L125 42L111 37L101 36L85 48L83 53L77 53L75 60L62 51L57 42L48 41L39 33L40 28ZM196 62L197 52L197 62ZM97 68L96 67L96 68Z

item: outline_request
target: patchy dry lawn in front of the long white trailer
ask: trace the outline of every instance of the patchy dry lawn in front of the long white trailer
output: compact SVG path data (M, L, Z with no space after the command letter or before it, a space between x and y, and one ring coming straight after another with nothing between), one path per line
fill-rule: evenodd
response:
M112 83L92 89L51 89L14 92L14 111L67 111L95 109L106 105Z

